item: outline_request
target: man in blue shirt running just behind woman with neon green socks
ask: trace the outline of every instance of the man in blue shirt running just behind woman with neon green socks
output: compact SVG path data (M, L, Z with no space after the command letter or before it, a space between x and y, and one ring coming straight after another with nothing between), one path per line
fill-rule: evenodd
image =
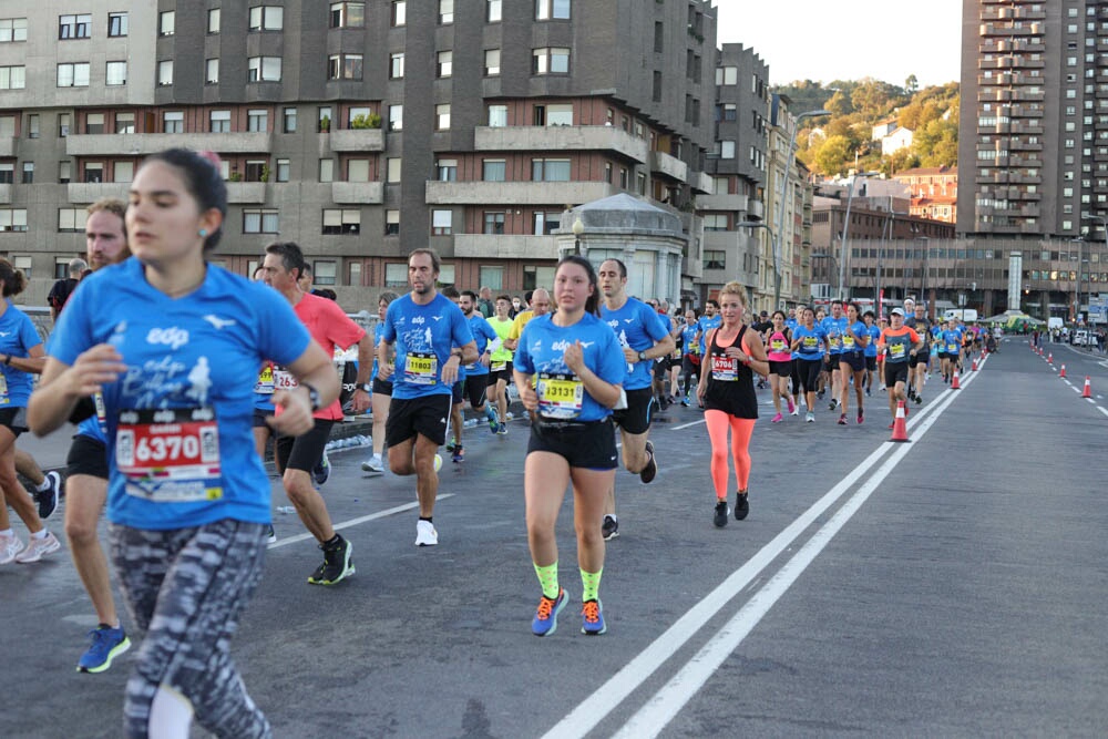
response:
M669 327L657 310L627 295L627 267L623 261L605 259L597 278L604 295L601 319L615 331L627 362L627 377L623 380L627 407L612 414L623 440L624 468L643 482L650 482L658 474L654 442L647 439L654 402L652 370L655 359L674 350L674 337L669 336ZM605 541L619 535L615 478L605 501L602 528Z

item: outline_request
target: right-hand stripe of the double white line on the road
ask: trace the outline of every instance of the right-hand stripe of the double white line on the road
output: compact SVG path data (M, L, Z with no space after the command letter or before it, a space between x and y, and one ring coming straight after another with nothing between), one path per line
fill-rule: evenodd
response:
M968 380L966 381L968 384ZM938 420L943 411L954 402L954 396L947 398L916 431L916 438L923 437ZM638 739L639 737L657 737L663 729L677 716L686 704L719 669L750 634L751 630L769 613L770 608L783 596L789 587L800 577L815 557L831 543L831 540L862 507L878 486L896 469L896 464L911 451L911 447L899 447L881 468L865 481L856 493L835 511L834 515L817 531L811 538L763 585L739 612L732 617L695 657L675 675L669 682L659 689L623 728L616 732L616 739Z

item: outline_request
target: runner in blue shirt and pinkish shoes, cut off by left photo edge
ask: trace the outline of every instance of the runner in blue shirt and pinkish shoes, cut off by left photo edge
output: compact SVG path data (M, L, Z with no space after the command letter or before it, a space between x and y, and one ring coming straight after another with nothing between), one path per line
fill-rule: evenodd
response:
M0 257L0 565L28 564L61 548L47 531L31 496L16 476L16 439L27 431L31 373L42 371L45 352L34 324L11 298L27 288L27 277ZM28 544L11 528L8 506L27 525Z

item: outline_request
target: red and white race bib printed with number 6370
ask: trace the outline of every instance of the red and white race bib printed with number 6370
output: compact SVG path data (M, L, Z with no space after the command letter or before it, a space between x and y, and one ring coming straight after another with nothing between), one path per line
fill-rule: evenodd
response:
M223 497L219 427L211 408L121 411L115 466L126 492L156 503Z

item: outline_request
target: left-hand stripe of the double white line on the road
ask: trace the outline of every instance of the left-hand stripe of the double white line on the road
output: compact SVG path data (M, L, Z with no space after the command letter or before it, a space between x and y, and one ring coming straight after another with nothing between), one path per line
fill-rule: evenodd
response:
M968 386L976 376L966 380ZM951 390L943 393L946 404L956 397ZM929 404L929 408L937 408ZM943 406L945 408L945 406ZM937 418L937 413L934 414ZM914 418L919 423L922 415ZM886 453L896 449L896 444L882 442L865 460L851 470L823 497L798 516L780 534L758 551L750 560L731 573L715 589L701 598L695 606L678 618L658 638L652 642L642 653L628 661L619 671L613 675L604 685L583 700L561 721L550 729L543 739L562 739L583 737L620 705L629 695L661 667L678 649L691 639L704 626L716 616L736 595L753 582L782 552L790 547L829 507L842 497L854 484L876 465ZM912 445L904 447L905 450Z

